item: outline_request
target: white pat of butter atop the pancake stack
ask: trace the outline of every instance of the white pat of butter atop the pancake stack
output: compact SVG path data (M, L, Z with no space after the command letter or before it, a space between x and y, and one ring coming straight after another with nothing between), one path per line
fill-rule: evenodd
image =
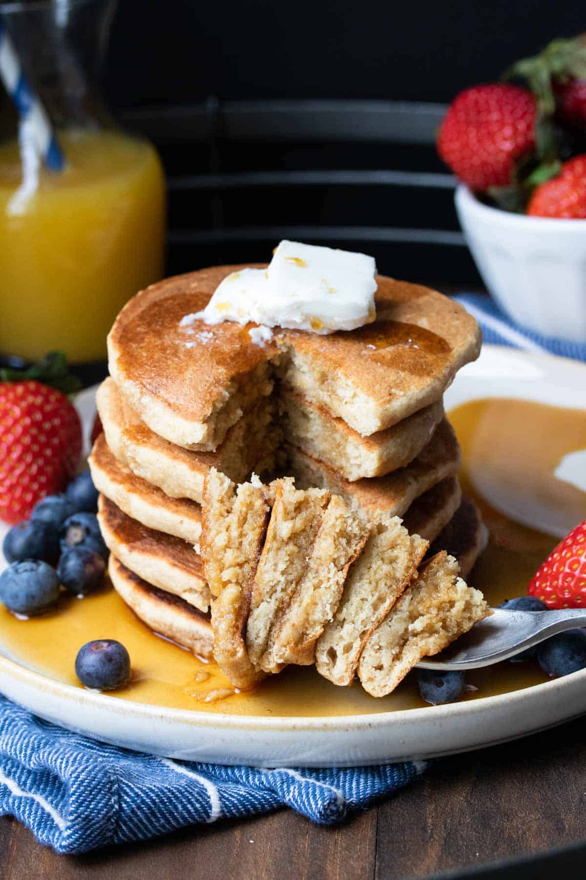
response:
M376 264L364 253L282 241L268 269L228 275L197 317L329 334L375 318ZM192 316L186 316L190 319Z

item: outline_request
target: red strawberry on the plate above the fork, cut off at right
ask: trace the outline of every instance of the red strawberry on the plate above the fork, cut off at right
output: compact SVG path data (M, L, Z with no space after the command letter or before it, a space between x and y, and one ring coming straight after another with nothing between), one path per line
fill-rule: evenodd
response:
M549 608L586 608L586 519L549 554L527 592Z

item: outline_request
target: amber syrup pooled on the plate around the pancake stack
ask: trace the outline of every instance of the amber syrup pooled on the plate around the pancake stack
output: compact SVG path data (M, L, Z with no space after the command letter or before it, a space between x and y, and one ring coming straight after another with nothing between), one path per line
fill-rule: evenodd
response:
M586 449L586 418L581 410L500 399L465 403L449 417L462 445L463 491L480 505L490 531L488 547L468 583L481 589L490 605L498 605L525 593L539 564L559 540L515 521L511 495L525 518L537 517L555 524L556 529L568 531L576 515L586 515L586 493L556 475L565 457ZM301 717L426 705L413 676L377 700L358 682L336 687L311 667L289 667L254 692L235 693L213 662L206 663L150 633L114 590L82 600L65 599L55 612L33 620L16 620L1 609L0 634L4 654L74 686L78 686L74 662L82 644L91 639L118 639L130 653L134 677L129 686L112 693L112 699L234 715ZM467 673L470 689L465 699L546 680L537 664L498 664Z

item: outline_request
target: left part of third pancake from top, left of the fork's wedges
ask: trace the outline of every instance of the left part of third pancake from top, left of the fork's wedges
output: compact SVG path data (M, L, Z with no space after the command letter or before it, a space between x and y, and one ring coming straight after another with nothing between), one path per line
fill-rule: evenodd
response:
M174 535L192 545L199 544L201 506L198 503L188 498L170 498L160 488L137 477L112 454L104 434L98 436L88 461L98 491L128 517L157 532Z

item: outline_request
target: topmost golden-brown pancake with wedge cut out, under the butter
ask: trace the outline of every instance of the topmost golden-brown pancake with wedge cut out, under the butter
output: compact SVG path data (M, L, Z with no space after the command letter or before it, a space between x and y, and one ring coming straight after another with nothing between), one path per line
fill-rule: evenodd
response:
M112 378L143 422L170 442L212 451L242 413L286 385L328 407L361 435L401 422L441 399L459 367L478 356L478 325L434 290L380 276L373 324L329 336L196 319L235 266L201 269L141 291L108 335ZM277 343L277 344L275 344Z

